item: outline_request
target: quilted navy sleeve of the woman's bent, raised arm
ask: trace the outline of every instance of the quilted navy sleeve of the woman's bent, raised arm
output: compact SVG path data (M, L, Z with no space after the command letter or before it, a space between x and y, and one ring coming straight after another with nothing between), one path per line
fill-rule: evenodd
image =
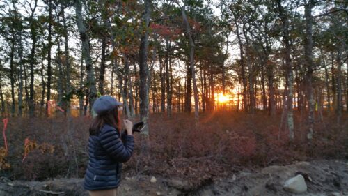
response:
M134 149L133 135L125 135L124 139L123 143L115 129L104 130L100 134L100 143L106 153L119 162L127 162L131 158Z

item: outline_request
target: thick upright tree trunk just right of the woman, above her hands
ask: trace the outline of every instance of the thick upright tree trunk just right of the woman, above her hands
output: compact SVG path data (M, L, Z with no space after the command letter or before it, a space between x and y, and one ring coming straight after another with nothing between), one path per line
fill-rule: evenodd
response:
M149 86L148 86L148 27L150 24L150 6L151 1L145 0L145 12L143 13L143 28L144 32L141 35L141 44L139 47L139 96L140 96L140 119L148 125L149 117ZM145 135L149 135L148 126L142 132Z

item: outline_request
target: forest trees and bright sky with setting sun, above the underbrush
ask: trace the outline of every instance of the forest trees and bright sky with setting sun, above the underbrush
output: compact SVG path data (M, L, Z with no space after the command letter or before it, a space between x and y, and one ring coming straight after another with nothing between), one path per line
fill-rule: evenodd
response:
M128 117L262 110L342 116L347 1L0 3L1 116L83 116L100 95Z

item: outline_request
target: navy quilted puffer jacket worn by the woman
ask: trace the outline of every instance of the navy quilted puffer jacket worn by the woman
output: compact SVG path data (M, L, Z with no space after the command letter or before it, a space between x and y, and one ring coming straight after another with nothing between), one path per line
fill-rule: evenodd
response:
M132 156L134 137L122 135L118 130L105 124L98 135L88 140L88 166L84 177L86 190L105 190L120 185L122 162Z

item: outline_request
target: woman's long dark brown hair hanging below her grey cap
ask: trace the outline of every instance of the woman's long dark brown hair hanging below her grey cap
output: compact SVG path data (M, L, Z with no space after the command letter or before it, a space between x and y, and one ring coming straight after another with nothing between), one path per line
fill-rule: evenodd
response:
M113 110L111 110L110 112L98 114L97 116L95 116L95 118L90 123L89 134L98 135L100 129L102 128L102 126L104 126L105 123L113 126L114 128L117 128L118 132L120 132L120 115L118 114L118 107L113 108Z

